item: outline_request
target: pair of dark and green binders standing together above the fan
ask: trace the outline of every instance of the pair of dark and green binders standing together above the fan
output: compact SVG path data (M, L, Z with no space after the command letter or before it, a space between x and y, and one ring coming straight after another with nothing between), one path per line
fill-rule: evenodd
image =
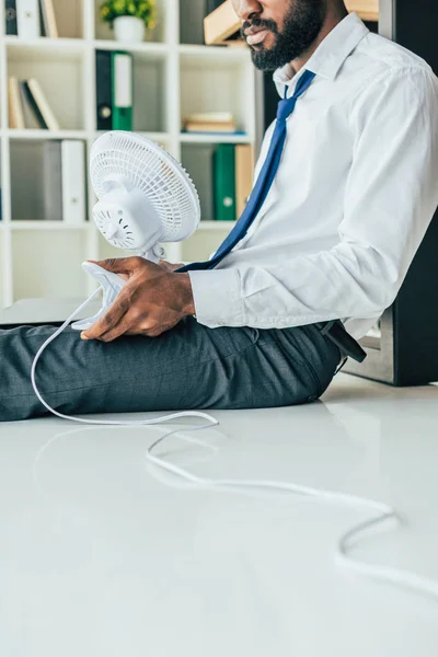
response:
M132 55L96 50L97 130L132 129Z

